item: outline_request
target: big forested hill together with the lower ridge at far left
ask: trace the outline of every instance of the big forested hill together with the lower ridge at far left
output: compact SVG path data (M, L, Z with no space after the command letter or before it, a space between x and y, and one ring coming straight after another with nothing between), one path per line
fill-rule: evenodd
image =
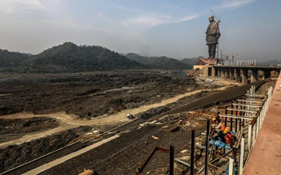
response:
M101 46L77 46L72 42L49 48L37 55L0 50L0 71L60 73L112 69L143 69L147 66Z

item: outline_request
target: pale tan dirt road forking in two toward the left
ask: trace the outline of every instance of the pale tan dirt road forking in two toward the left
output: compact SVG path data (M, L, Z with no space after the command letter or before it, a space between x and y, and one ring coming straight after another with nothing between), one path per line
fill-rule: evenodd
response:
M212 90L225 90L229 88L229 86L224 86L224 87L220 87L217 89L212 89ZM30 117L51 117L51 118L56 118L61 120L64 124L62 126L59 126L57 128L48 130L48 131L43 131L43 132L37 132L35 134L28 134L25 135L19 139L15 139L15 140L11 140L8 142L4 142L4 143L0 143L0 148L5 148L8 145L12 145L12 144L20 144L23 142L27 142L30 141L32 139L38 139L41 137L44 137L45 135L51 135L60 131L64 131L67 129L72 129L78 126L93 126L93 125L105 125L105 124L115 124L115 123L121 123L121 122L126 122L129 121L127 119L127 114L138 114L140 112L146 111L148 109L151 108L155 108L155 107L159 107L159 106L164 106L170 103L173 103L181 98L196 94L196 93L200 93L202 91L210 91L209 89L204 89L204 90L195 90L192 92L188 92L185 94L180 94L180 95L176 95L175 97L169 98L169 99L165 99L162 100L160 103L155 103L152 105L145 105L145 106L141 106L139 108L134 108L134 109L126 109L123 110L117 114L113 114L110 116L100 116L100 117L96 117L94 119L91 120L77 120L77 116L75 116L74 114L66 114L65 112L57 112L54 114L32 114L32 113L28 113L28 112L22 112L22 113L17 113L17 114L9 114L9 115L3 115L0 116L0 119L23 119L23 118L30 118Z

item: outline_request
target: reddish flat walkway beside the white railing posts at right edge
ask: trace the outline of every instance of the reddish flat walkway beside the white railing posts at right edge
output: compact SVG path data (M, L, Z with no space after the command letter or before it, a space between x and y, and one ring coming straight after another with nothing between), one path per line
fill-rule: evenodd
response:
M281 175L281 74L243 175Z

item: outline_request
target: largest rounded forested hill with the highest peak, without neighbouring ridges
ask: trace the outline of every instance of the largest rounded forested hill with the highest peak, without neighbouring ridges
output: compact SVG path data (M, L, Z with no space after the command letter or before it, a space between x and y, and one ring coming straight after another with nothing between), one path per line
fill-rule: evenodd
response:
M72 42L65 42L32 56L27 64L36 71L42 69L53 72L145 68L144 65L105 47L77 46Z

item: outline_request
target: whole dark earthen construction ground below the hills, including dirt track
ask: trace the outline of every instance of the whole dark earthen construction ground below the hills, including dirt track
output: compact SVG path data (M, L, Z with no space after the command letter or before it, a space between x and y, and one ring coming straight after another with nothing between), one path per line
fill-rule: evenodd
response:
M42 75L40 81L30 76L25 77L28 89L20 92L21 77L2 77L1 103L9 103L11 108L1 109L1 174L171 174L172 170L173 174L190 174L191 169L200 174L206 160L209 173L227 172L232 148L222 147L223 152L218 152L222 143L213 143L206 129L213 124L211 116L221 118L239 134L239 149L243 135L246 161L248 127L259 123L252 129L257 135L262 124L257 115L262 111L264 117L277 77L242 85L198 75L198 71L187 71L186 77L176 77L173 72L135 72L138 79L132 78L131 87L123 85L131 72L111 72L106 77L120 80L114 89L113 85L98 86L89 78L105 77L99 72L68 75L73 77ZM50 87L46 81L52 82ZM40 93L34 91L38 88ZM96 102L96 97L103 101ZM252 136L252 144L255 138ZM233 166L236 171L241 169L237 165Z

